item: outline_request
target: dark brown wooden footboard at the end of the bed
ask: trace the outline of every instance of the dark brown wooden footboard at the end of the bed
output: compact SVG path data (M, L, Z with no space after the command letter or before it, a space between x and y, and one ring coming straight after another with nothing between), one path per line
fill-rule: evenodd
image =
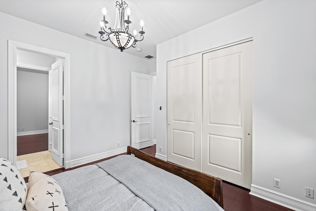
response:
M222 179L214 177L197 170L188 169L176 164L172 164L153 156L150 156L134 147L127 146L127 155L133 154L136 158L144 160L160 169L164 169L173 173L177 176L180 176L199 189L204 191L209 197L211 197L219 206L223 208L223 188L222 188Z

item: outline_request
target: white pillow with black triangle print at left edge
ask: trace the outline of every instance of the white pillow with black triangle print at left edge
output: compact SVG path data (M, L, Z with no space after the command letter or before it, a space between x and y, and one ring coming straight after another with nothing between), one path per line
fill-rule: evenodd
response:
M0 211L23 211L28 190L19 170L0 158Z

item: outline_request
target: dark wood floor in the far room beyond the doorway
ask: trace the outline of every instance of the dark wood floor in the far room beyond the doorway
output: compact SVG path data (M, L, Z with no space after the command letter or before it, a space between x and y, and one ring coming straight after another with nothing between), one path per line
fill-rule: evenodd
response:
M26 155L48 150L48 133L16 137L17 155Z

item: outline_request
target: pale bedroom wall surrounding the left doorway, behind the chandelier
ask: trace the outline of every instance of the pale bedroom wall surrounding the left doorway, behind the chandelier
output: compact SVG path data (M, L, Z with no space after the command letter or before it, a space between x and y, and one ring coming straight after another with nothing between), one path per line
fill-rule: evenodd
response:
M8 40L70 54L67 160L129 145L130 72L148 74L148 61L4 13L0 13L0 28L0 157L8 157Z

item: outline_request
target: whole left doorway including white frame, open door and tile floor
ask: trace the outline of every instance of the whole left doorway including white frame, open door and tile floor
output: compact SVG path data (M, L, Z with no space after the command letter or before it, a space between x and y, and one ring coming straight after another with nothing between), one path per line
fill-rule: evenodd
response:
M28 176L30 170L46 172L66 164L70 127L69 69L69 54L8 41L8 159L20 169L23 177ZM26 90L19 95L21 74L32 75L29 79L45 78L45 87L34 86L39 81L31 82L32 85L22 83L29 88L29 94L40 90L45 96L33 93L39 97L27 97ZM21 97L28 104L20 106ZM42 114L36 114L38 111Z

